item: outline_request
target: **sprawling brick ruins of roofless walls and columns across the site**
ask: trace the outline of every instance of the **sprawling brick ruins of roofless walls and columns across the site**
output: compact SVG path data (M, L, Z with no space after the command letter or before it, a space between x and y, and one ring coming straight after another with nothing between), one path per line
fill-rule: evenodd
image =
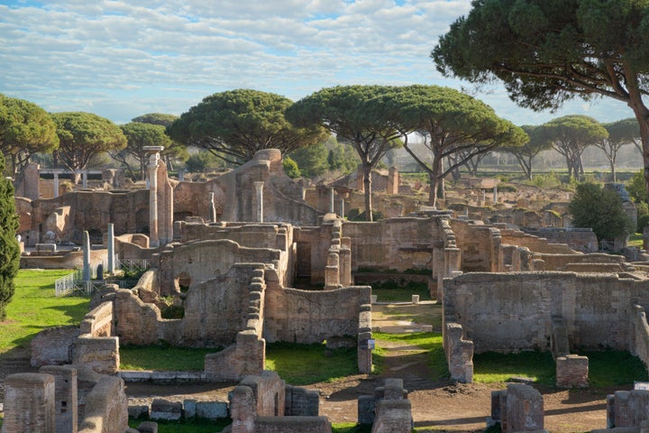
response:
M484 351L552 352L557 385L568 388L589 384L589 360L573 354L575 347L628 350L649 363L649 266L597 253L591 231L544 231L539 214L489 210L480 219L473 207L435 210L407 200L398 212L392 208L396 217L353 222L342 216L360 197L358 183L305 189L284 174L278 151L258 152L239 169L200 183L169 179L157 152L151 149L149 189L16 198L23 266L89 268L109 249L122 259L146 259L151 268L132 289L96 290L80 327L34 338L32 365L41 373L6 379L4 432L27 425L50 432L57 423L75 424L74 417L78 431L126 431L121 377L133 376L119 371L119 347L159 342L215 349L203 372L173 374L238 382L228 402L230 431L331 431L318 415L317 396L264 371L265 347L324 340L355 347L358 371L370 373L371 288L354 284L368 269L425 274L431 297L443 306L443 347L458 382L472 381L473 354ZM394 170L384 183L388 194L402 190ZM480 200L486 194L475 204ZM495 203L501 200L494 194ZM535 230L520 230L515 220L531 221ZM88 246L59 251L84 237ZM297 289L305 280L321 290ZM163 297L182 318L163 317ZM102 376L87 379L88 369ZM84 384L73 391L80 372ZM67 385L58 385L60 377L69 378ZM102 397L93 400L95 391ZM609 398L609 427L639 427L643 399L639 392ZM45 409L32 409L34 401ZM358 404L359 422L373 424L372 431L412 428L398 380ZM90 427L88 417L102 420ZM510 385L492 397L491 418L503 431L543 430L543 399Z

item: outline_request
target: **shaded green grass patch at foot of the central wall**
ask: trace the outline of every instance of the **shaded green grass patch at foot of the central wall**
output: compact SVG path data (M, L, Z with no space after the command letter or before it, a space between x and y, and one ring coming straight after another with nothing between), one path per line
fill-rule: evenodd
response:
M301 386L358 374L358 360L355 347L331 350L324 344L280 342L266 345L266 369L277 372L291 385Z

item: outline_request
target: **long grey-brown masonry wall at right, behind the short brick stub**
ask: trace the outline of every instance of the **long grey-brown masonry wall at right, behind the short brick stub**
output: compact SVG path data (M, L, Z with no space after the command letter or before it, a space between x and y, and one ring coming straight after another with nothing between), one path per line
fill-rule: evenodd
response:
M466 273L444 281L444 309L475 352L549 350L552 318L564 320L571 346L629 350L631 299L649 282L611 274Z

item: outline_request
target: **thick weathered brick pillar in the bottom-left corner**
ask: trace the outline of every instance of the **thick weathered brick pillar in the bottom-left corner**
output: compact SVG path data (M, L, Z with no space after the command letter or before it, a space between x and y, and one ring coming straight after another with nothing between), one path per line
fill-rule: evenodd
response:
M56 433L54 377L16 373L5 379L5 419L2 433Z

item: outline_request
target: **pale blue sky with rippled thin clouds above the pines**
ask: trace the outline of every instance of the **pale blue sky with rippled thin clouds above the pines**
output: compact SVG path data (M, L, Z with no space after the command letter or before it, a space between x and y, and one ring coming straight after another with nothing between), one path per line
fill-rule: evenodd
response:
M208 95L254 88L298 100L349 84L435 84L430 51L471 0L0 0L0 93L117 124L180 115ZM516 124L632 116L610 100L558 113L474 94Z

